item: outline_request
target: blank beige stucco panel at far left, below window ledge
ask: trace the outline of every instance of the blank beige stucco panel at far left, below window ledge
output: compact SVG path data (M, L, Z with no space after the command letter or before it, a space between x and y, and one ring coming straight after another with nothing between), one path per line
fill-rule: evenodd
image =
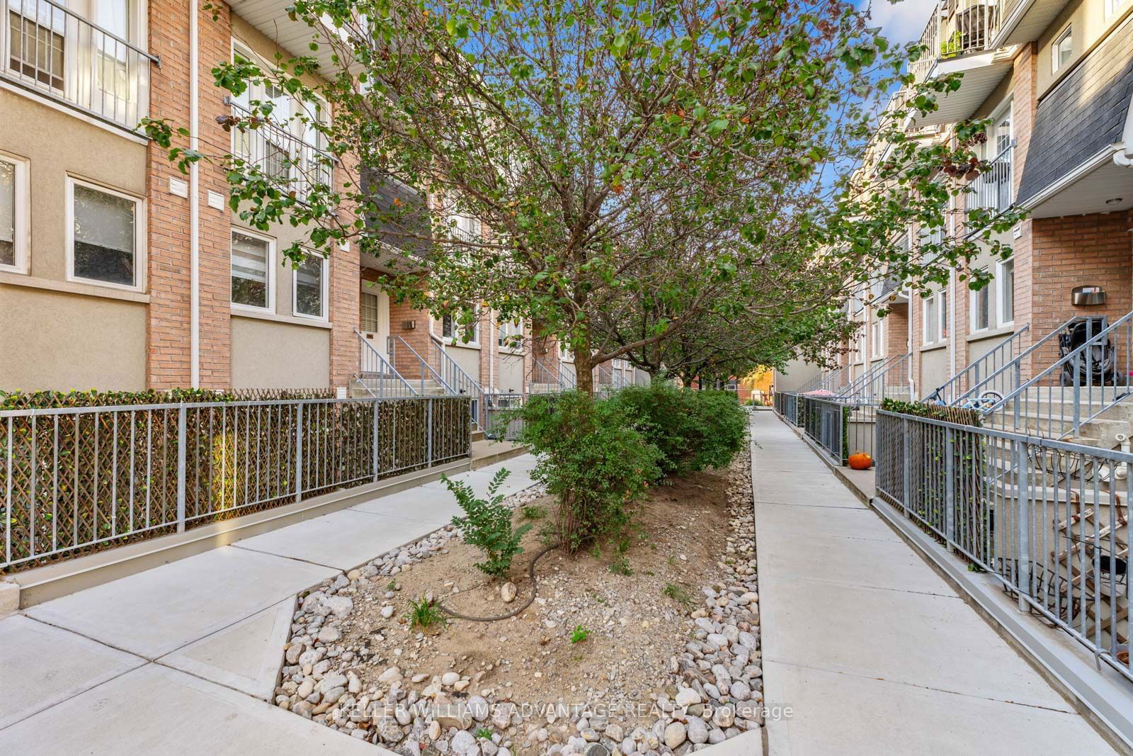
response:
M145 388L146 306L0 284L0 389Z

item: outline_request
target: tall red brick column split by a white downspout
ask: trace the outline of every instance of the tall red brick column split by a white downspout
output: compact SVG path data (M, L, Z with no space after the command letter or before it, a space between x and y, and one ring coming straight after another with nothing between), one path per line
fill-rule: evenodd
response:
M210 73L216 60L229 54L228 7L201 9L199 131L205 151L224 147L229 137L216 124L222 114L222 99L212 85ZM150 3L150 50L161 56L161 68L151 70L150 113L168 118L180 127L189 124L189 45L188 8L182 2L153 0ZM177 144L187 146L187 139ZM201 385L225 389L231 384L229 318L229 221L227 211L207 206L207 192L228 195L220 168L199 164L199 338ZM187 180L165 156L165 151L150 145L148 158L148 368L153 388L187 387L189 364L189 202L169 194L169 178Z

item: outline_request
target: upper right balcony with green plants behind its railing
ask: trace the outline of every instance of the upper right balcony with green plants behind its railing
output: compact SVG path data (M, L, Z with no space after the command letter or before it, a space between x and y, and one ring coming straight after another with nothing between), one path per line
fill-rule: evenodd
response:
M918 83L962 74L961 87L937 95L936 112L913 119L910 126L923 128L954 124L970 118L1011 70L1012 50L993 46L999 24L996 0L942 0L929 19L920 43L925 52L909 63Z

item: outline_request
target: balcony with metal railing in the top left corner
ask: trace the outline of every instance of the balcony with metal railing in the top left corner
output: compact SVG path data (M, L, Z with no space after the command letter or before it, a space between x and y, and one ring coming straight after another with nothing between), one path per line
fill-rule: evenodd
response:
M154 56L51 0L0 0L0 78L129 131L148 112Z

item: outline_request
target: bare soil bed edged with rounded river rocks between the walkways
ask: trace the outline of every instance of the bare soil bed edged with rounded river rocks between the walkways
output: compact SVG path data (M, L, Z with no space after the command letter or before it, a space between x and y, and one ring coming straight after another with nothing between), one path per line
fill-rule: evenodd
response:
M517 521L554 506L538 487L506 503ZM428 594L477 615L520 605L538 521L503 586L452 526L323 581L300 596L274 703L406 756L682 755L758 730L749 455L656 486L636 523L623 558L542 558L508 620L421 632L406 615Z

